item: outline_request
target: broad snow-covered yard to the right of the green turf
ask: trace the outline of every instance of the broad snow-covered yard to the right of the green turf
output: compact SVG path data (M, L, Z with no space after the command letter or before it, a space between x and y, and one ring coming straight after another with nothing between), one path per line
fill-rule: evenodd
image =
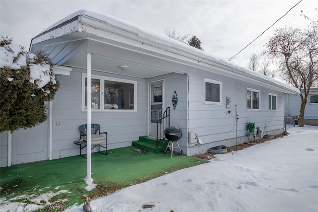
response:
M287 137L219 154L209 163L93 200L91 209L93 212L318 212L318 127L294 127L288 132ZM82 211L80 205L65 212Z

